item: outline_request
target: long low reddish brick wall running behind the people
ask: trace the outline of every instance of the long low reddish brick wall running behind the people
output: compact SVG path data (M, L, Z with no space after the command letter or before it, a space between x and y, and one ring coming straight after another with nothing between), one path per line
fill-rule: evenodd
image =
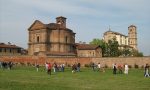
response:
M117 58L73 58L73 57L40 57L40 56L1 56L0 61L12 61L14 63L24 63L24 64L40 64L44 65L45 62L51 63L64 63L71 65L73 63L80 62L82 66L89 64L91 62L101 63L102 66L112 67L113 63L116 64L125 64L134 66L135 64L139 67L144 66L145 64L150 65L150 57L117 57Z

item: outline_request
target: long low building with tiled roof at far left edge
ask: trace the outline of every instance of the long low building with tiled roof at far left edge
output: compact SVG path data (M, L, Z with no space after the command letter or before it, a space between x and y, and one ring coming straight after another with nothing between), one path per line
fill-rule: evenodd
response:
M0 56L2 55L21 55L21 47L10 43L0 43Z

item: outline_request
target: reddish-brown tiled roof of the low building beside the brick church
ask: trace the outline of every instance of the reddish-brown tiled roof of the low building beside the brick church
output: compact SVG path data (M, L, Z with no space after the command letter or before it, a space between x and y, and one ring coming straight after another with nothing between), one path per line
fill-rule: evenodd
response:
M76 44L76 48L79 50L95 50L98 47L100 46L91 44Z

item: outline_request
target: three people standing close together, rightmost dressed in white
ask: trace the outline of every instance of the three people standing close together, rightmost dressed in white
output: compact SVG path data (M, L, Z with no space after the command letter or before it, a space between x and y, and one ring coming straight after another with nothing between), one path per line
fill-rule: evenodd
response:
M117 74L117 70L119 74L123 74L123 69L124 69L124 74L128 74L129 67L127 64L124 66L122 64L113 64L113 74Z

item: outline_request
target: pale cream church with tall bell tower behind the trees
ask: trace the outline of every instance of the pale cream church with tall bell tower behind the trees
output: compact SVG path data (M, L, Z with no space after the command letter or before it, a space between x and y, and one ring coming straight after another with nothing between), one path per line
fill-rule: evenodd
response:
M124 48L130 48L134 50L137 49L137 30L136 26L131 25L128 27L128 36L111 31L110 29L104 33L104 41L108 43L109 40L115 39L118 41L119 48L124 49Z

